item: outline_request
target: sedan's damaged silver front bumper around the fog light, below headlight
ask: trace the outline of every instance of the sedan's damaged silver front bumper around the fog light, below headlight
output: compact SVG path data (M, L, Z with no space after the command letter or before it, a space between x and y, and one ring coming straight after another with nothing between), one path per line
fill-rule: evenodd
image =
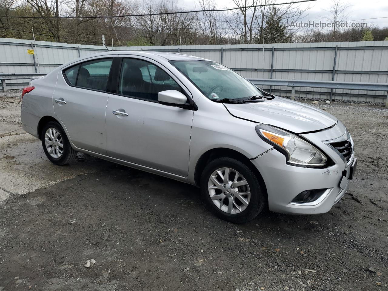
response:
M333 160L324 169L288 165L285 156L277 151L251 160L260 171L268 193L271 211L289 214L319 214L329 211L345 195L349 181L357 167L353 140L352 154L346 160L334 149L330 140L338 140L347 133L342 123L322 132L303 134L303 137L322 149Z

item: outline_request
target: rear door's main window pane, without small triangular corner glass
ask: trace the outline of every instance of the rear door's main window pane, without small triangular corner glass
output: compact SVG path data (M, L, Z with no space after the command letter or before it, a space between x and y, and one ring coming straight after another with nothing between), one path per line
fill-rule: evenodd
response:
M105 91L112 62L113 59L83 62L78 72L76 86Z

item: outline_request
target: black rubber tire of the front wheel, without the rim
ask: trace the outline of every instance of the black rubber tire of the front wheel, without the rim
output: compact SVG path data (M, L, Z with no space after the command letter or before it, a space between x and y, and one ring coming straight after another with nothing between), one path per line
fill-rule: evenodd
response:
M225 211L220 210L213 201L211 200L209 190L208 190L208 181L210 175L219 168L232 168L233 170L238 171L244 176L245 180L248 182L249 189L251 192L251 197L248 206L245 210L240 213L230 214ZM256 177L255 173L244 163L237 159L233 158L217 158L211 161L203 170L200 180L201 193L204 201L210 207L210 209L223 220L227 220L233 223L246 223L249 220L255 218L260 212L262 212L265 206L265 196L260 186L260 182ZM217 190L219 191L219 190ZM220 203L221 204L221 203Z

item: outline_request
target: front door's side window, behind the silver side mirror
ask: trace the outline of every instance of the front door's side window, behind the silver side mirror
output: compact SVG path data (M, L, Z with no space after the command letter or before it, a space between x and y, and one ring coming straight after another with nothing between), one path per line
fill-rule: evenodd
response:
M182 92L180 86L163 69L139 59L123 59L118 93L156 102L158 93Z

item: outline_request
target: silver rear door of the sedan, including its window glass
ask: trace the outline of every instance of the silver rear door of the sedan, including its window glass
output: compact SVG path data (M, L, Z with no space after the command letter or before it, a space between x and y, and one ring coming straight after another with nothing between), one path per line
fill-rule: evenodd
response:
M105 109L113 57L85 61L59 73L54 112L76 147L106 155Z

